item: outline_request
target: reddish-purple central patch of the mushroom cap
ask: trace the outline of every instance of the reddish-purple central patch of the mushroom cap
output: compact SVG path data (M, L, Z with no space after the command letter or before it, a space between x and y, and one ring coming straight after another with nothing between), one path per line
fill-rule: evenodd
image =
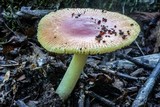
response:
M99 30L95 20L81 16L79 18L69 18L62 25L64 31L71 36L95 36Z

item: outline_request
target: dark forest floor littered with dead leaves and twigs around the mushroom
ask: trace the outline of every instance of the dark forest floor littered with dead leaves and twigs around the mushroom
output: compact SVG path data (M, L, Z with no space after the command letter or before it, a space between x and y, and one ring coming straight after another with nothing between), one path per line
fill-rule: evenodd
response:
M0 106L130 107L160 58L159 10L128 13L127 16L141 26L136 41L116 52L89 56L74 91L63 103L55 89L72 55L47 52L37 41L36 33L39 20L46 14L41 10L48 5L54 9L47 8L47 11L69 6L57 2L56 5L53 5L54 2L31 3L19 0L0 4ZM25 4L32 8L23 7ZM32 9L38 10L38 13ZM147 57L140 60L140 64L132 60L143 56ZM122 62L119 64L117 61ZM142 105L160 106L160 82L157 80L153 85Z

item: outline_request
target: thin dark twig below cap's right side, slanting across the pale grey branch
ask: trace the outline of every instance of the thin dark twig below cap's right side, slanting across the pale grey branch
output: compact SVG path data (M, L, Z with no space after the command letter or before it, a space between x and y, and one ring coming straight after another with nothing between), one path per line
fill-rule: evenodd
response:
M133 59L132 57L128 56L128 55L123 55L123 54L120 54L118 55L119 57L121 58L124 58L124 59L127 59L133 63L135 63L137 66L140 66L140 67L143 67L143 68L146 68L146 69L153 69L152 66L150 66L149 64L146 64L145 62L140 62L136 59Z

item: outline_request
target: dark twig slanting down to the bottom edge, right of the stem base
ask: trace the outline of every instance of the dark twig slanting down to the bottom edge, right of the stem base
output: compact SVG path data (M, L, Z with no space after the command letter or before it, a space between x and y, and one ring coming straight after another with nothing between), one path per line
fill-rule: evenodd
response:
M94 97L95 99L103 102L107 106L115 107L115 103L114 102L112 102L112 101L110 101L108 99L105 99L104 97L101 97L101 96L97 95L96 93L94 93L92 91L86 91L86 94L88 94L89 96Z

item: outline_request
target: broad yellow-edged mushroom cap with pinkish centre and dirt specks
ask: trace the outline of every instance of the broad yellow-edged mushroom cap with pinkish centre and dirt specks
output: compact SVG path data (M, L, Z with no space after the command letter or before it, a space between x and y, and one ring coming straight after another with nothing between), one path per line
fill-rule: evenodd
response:
M101 54L131 44L140 27L133 19L100 9L62 9L44 16L37 38L49 52Z

